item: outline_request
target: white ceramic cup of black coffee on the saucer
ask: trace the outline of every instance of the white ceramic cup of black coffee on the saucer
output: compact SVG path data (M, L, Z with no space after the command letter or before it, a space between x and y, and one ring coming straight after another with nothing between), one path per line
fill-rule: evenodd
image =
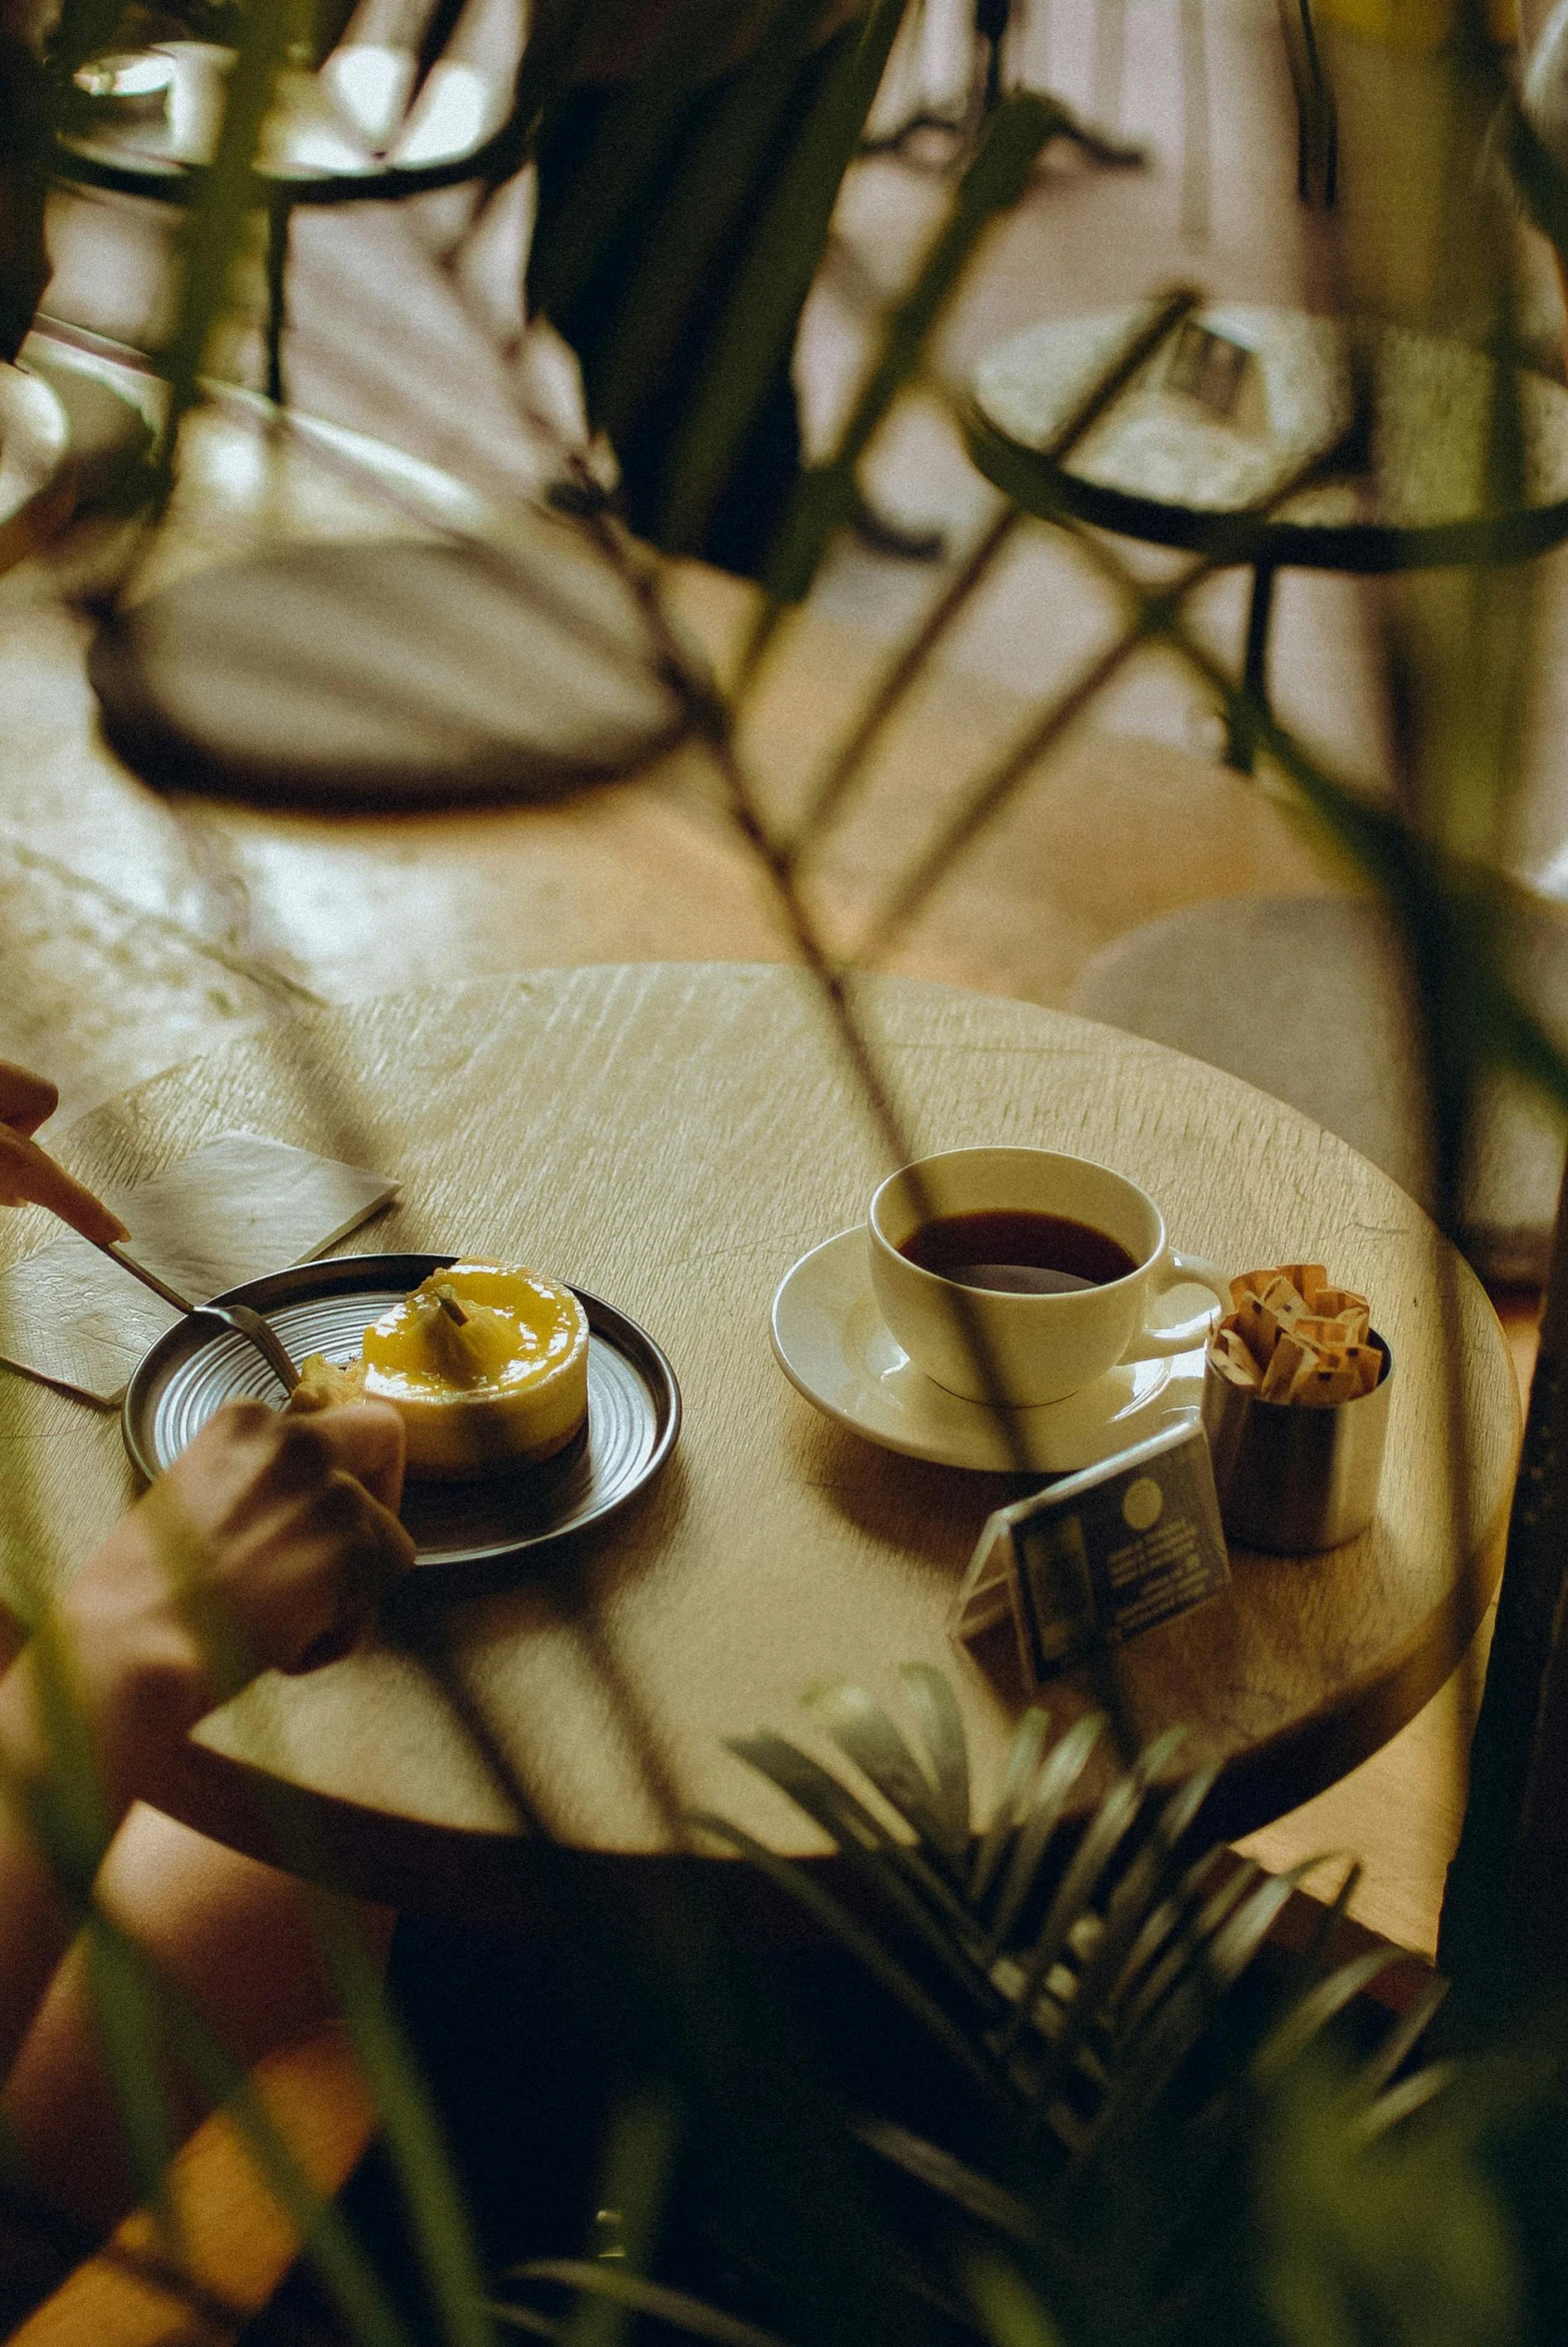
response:
M972 1289L927 1272L899 1249L922 1223L948 1213L1059 1213L1106 1232L1134 1260L1122 1279L1059 1296ZM890 1174L871 1199L871 1286L911 1361L969 1401L1033 1408L1063 1401L1117 1361L1148 1361L1202 1345L1214 1307L1176 1326L1153 1326L1167 1289L1197 1281L1230 1310L1223 1272L1169 1244L1148 1190L1089 1157L1056 1150L946 1150ZM976 1359L991 1364L991 1385Z

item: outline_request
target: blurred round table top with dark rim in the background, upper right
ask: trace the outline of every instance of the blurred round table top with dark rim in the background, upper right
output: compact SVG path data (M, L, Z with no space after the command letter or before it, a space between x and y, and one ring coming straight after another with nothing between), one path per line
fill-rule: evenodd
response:
M1364 326L1376 451L1331 451L1352 434L1350 331L1343 319L1249 303L1199 310L1204 326L1253 354L1235 415L1216 415L1167 383L1162 350L1084 434L1066 465L1040 451L1138 324L1138 305L1061 317L998 343L974 368L969 453L1028 512L1066 502L1080 521L1223 561L1307 570L1411 570L1516 561L1568 537L1568 392L1514 373L1523 434L1523 498L1486 509L1486 432L1495 361L1467 343L1408 326ZM1310 486L1268 519L1246 514L1312 458Z

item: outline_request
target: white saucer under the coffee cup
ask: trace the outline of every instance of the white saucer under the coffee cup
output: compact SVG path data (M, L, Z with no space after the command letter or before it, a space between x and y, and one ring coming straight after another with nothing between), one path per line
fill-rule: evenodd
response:
M1199 1408L1204 1392L1202 1345L1162 1361L1127 1361L1066 1401L1009 1411L1007 1441L1000 1411L932 1385L887 1328L871 1293L864 1223L824 1239L784 1274L772 1298L772 1350L796 1392L866 1441L939 1467L1002 1474L1019 1465L1040 1474L1091 1467L1157 1434L1178 1411Z

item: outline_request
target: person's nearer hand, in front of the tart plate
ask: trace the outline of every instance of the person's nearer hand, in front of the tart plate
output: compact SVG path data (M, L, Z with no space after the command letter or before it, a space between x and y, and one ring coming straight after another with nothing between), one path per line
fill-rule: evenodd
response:
M246 1678L352 1645L413 1558L401 1483L390 1404L279 1418L232 1401L120 1521L52 1610L110 1824ZM0 1685L0 1751L23 1772L47 1770L38 1687L21 1718L5 1706L28 1669Z

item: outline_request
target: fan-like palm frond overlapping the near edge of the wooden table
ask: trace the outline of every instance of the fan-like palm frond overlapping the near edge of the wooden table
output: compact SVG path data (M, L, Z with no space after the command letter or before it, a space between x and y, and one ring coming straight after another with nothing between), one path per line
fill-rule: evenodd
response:
M906 1673L906 1690L920 1687L918 1718L937 1723L925 1751L861 1687L833 1680L805 1695L904 1833L786 1737L730 1746L829 1835L871 1903L857 1899L852 1913L815 1861L779 1859L721 1819L704 1826L789 1889L1026 2133L1045 2124L1070 2155L1106 2150L1169 2091L1310 1868L1265 1875L1237 1864L1216 1885L1218 1852L1192 1847L1216 1772L1171 1781L1176 1730L1073 1821L1103 1723L1082 1718L1047 1744L1038 1706L1019 1723L991 1824L960 1845L962 1720L951 1690L944 1702L932 1683L930 1669L918 1680ZM1354 1871L1326 1910L1326 1934L1352 1885ZM1399 1950L1378 1950L1329 1967L1314 1950L1300 1967L1305 1986L1249 2056L1246 2091L1270 2091L1397 1960ZM1430 2009L1422 2000L1415 2023L1399 2023L1357 2075L1359 2124Z

